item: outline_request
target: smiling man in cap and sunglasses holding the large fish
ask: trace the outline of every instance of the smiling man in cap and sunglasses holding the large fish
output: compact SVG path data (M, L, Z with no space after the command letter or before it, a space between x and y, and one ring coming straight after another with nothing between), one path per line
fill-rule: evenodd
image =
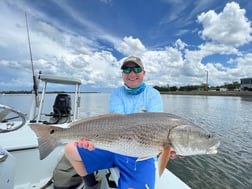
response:
M124 60L121 69L124 85L112 91L109 111L122 114L162 112L163 104L160 93L143 82L145 70L141 59L130 56ZM115 166L120 170L119 189L154 189L155 164L153 158L136 161L137 157L95 149L86 140L67 144L65 154L77 173L83 177L86 189L98 187L99 183L92 174L94 171Z

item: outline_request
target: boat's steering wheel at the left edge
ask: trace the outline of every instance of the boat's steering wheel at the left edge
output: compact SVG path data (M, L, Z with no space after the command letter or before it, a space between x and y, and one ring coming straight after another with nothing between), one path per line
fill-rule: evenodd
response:
M0 133L15 131L24 126L25 122L24 113L0 104Z

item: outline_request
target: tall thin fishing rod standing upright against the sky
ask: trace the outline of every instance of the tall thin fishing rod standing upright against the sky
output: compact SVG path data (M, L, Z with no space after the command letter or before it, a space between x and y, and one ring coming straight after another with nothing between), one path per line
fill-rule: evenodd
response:
M33 66L33 60L32 60L32 51L31 51L31 42L30 42L30 35L29 35L29 28L28 28L26 13L25 13L25 22L26 22L28 44L29 44L30 60L31 60L31 66L32 66L33 91L34 91L34 94L35 94L36 106L38 106L39 105L39 102L38 102L38 83L37 83L37 79L36 79L36 76L35 76L35 73L34 73L34 66Z

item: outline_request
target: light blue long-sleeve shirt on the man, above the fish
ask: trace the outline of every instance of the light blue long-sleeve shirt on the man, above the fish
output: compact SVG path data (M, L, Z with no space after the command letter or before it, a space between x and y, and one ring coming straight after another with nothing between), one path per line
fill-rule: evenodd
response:
M153 87L146 86L142 93L131 95L125 92L124 86L120 86L111 92L109 111L121 114L162 112L163 103L160 93Z

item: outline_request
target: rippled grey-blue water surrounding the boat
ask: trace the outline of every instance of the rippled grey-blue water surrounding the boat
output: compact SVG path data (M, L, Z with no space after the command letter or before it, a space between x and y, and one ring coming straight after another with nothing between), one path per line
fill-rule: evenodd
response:
M46 96L44 112L52 111L55 94ZM107 93L82 94L81 117L108 113ZM216 155L170 160L168 169L192 189L252 188L252 98L162 95L164 111L177 114L215 133ZM29 115L30 95L0 95L0 103Z

